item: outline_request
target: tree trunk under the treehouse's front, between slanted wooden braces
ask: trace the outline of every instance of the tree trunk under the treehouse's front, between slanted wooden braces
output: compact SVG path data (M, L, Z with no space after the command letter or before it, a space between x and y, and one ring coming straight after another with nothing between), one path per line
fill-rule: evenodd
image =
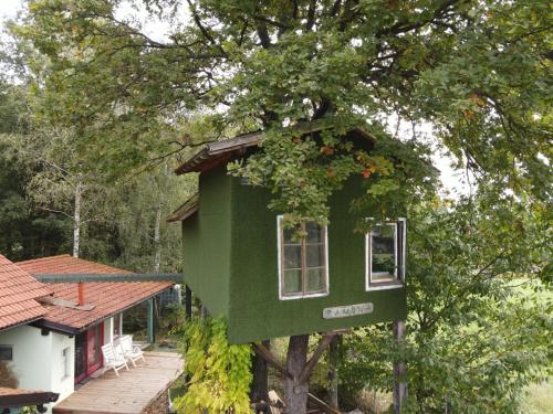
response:
M293 376L285 379L284 390L286 393L286 412L293 414L305 414L307 411L309 379L299 384L296 381L307 361L309 335L290 337L286 369Z

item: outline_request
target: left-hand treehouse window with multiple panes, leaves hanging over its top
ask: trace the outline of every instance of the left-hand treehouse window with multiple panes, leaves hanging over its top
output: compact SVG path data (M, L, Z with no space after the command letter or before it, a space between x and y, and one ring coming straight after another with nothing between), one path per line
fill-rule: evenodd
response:
M296 229L285 229L282 215L278 224L281 299L327 294L326 227L305 221ZM299 231L303 237L296 237Z

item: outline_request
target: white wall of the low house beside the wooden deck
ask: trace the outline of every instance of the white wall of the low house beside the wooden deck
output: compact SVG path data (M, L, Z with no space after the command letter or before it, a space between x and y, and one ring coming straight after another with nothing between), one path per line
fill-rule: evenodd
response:
M55 332L42 336L40 328L21 326L0 331L0 344L12 347L10 367L19 380L19 388L59 393L58 401L74 391L74 338ZM62 351L65 348L69 348L71 375L62 378Z

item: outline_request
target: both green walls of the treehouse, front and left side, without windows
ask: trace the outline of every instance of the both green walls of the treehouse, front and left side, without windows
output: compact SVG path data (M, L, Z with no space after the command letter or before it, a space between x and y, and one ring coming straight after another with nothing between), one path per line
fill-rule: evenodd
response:
M349 180L331 201L328 295L281 300L278 214L267 190L227 174L226 162L201 172L197 211L182 221L185 283L213 316L225 316L231 343L405 320L405 287L366 291L365 235L354 232ZM373 304L367 315L324 319L330 307Z

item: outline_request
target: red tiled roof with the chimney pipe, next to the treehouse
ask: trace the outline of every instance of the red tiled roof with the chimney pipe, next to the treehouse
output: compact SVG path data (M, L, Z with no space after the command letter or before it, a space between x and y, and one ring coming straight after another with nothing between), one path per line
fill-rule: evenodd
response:
M34 275L46 274L132 274L117 267L75 258L69 255L19 262L27 272ZM114 314L128 309L173 286L169 282L94 282L84 283L84 302L94 305L93 310L79 310L45 305L44 320L74 329L83 329ZM54 297L77 301L77 284L49 284Z

